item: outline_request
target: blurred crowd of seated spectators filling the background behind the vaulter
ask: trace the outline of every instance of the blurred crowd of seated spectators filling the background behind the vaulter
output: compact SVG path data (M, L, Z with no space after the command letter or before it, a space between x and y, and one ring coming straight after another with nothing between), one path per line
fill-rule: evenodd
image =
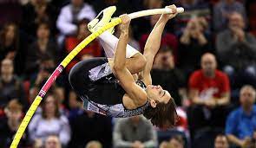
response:
M111 119L82 109L69 85L77 63L105 56L95 40L49 89L22 148L254 148L256 146L256 2L253 0L1 0L0 147L9 147L26 111L57 64L90 35L104 8L115 16L176 4L154 59L154 85L169 91L180 117L161 130L147 119ZM143 52L160 16L131 23L129 44ZM115 29L118 36L118 29Z

